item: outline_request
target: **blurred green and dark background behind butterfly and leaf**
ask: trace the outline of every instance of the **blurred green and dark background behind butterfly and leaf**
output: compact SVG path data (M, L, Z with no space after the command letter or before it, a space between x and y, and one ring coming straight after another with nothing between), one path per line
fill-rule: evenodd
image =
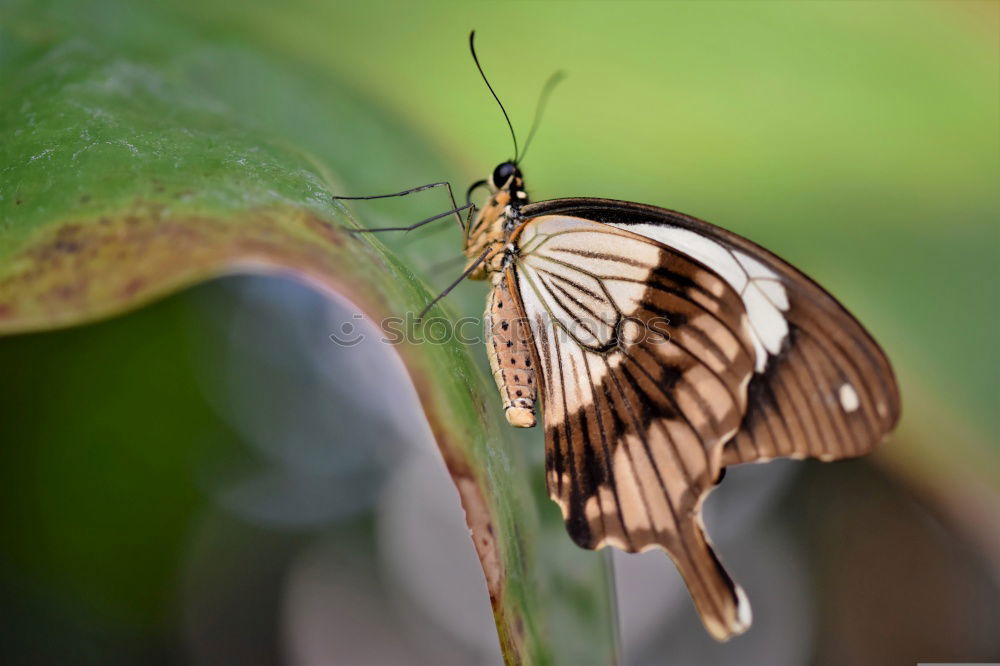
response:
M717 539L758 611L747 637L712 645L673 579L636 601L673 574L616 560L624 661L1000 659L1000 4L8 1L0 99L19 107L8 86L46 49L97 39L189 77L234 126L329 169L331 191L461 192L512 151L472 28L522 140L543 82L568 73L523 165L534 199L635 200L741 233L840 298L898 373L903 421L871 460L735 470L733 487L770 489ZM8 227L19 177L0 165ZM352 210L381 226L445 206ZM447 222L385 240L435 287L460 269ZM451 307L483 298L466 284ZM371 372L324 349L342 320L292 282L231 279L0 339L3 663L499 659L474 558L468 586L446 568L436 592L405 580L444 555L387 559L423 561L419 536L392 535L433 492L400 467L428 435L402 389L358 389L363 419L338 393ZM517 437L537 460L541 434ZM560 539L556 524L539 547Z

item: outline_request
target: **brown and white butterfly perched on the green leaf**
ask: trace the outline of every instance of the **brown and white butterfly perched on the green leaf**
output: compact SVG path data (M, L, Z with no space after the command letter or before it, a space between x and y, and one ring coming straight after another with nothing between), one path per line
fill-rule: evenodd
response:
M470 188L486 202L445 214L474 212L462 278L491 285L506 420L534 426L541 407L546 485L578 545L665 550L727 640L751 612L705 498L729 465L871 451L899 419L892 367L833 296L742 236L628 201L531 202L514 143Z

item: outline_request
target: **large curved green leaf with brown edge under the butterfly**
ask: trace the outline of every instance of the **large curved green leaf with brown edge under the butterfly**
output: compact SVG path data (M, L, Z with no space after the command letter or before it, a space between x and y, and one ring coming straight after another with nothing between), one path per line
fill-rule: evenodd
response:
M292 276L375 321L431 296L331 198L391 190L415 172L406 156L430 151L331 72L129 3L8 6L0 26L0 332L93 322L234 273ZM506 660L613 660L601 560L565 537L470 350L398 349Z

